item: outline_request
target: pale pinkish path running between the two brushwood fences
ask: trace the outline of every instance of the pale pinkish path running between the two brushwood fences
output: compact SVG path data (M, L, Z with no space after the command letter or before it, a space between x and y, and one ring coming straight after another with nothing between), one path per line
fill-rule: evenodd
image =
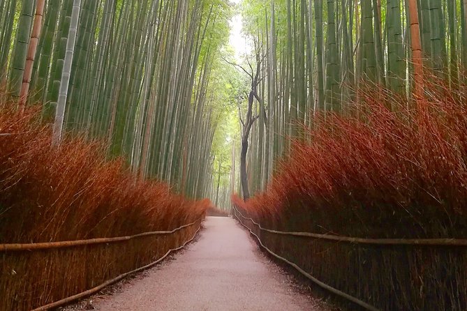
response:
M96 310L325 310L299 294L235 220L208 217L204 226L176 260L94 300Z

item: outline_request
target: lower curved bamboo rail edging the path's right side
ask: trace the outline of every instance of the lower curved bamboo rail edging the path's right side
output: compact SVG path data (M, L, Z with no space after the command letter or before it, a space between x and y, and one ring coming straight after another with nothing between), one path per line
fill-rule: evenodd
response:
M295 268L299 273L302 273L302 275L304 275L306 278L308 278L309 280L311 280L312 282L314 282L316 285L320 286L320 287L323 287L324 289L326 289L327 291L330 291L332 292L333 294L336 294L337 296L341 296L342 298L346 298L348 301L352 301L353 303L359 305L360 307L366 309L366 310L371 310L371 311L379 311L379 309L373 307L373 305L370 305L369 303L365 303L364 301L361 301L359 300L358 298L354 297L354 296L350 296L349 294L346 294L344 293L343 291L339 291L339 289L336 289L332 286L329 286L327 285L326 283L323 283L321 282L320 280L318 280L317 278L314 278L313 275L307 273L306 271L304 271L302 268L300 268L299 266L297 266L297 264L294 264L292 261L289 261L288 259L286 258L283 258L279 255L277 255L275 252L273 252L272 250L269 250L269 248L267 248L266 245L264 245L260 239L259 236L257 236L248 226L244 225L244 223L242 222L242 220L240 220L240 218L238 218L237 216L237 213L239 213L239 215L242 216L242 218L245 218L244 215L242 215L242 213L240 213L239 211L237 211L237 208L234 208L234 215L235 215L235 218L237 218L237 220L240 222L240 224L245 227L247 230L249 230L249 232L255 236L255 238L258 240L258 243L260 243L261 247L264 248L265 250L267 250L267 252L269 252L269 254L271 254L272 256L276 257L277 259L281 260L281 261L284 261L286 262L286 264L289 264L290 266L292 266L293 268ZM251 220L251 218L245 218L246 220ZM254 221L253 223L255 225L257 225L259 227L258 224L256 224Z

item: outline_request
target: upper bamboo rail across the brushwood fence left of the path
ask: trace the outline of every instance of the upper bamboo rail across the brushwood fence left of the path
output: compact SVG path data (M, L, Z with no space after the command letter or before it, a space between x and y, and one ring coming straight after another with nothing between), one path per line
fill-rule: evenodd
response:
M75 240L75 241L61 241L61 242L45 242L45 243L13 243L13 244L0 244L0 252L6 251L21 251L21 250L50 250L55 248L70 248L74 246L82 245L94 245L94 244L104 244L104 243L117 243L122 241L129 241L133 238L140 238L142 236L156 236L156 235L167 235L173 234L181 229L186 227L191 227L200 221L196 220L191 222L191 224L183 225L172 231L154 231L154 232L144 232L142 234L135 234L133 236L118 236L115 238L90 238L88 240Z

